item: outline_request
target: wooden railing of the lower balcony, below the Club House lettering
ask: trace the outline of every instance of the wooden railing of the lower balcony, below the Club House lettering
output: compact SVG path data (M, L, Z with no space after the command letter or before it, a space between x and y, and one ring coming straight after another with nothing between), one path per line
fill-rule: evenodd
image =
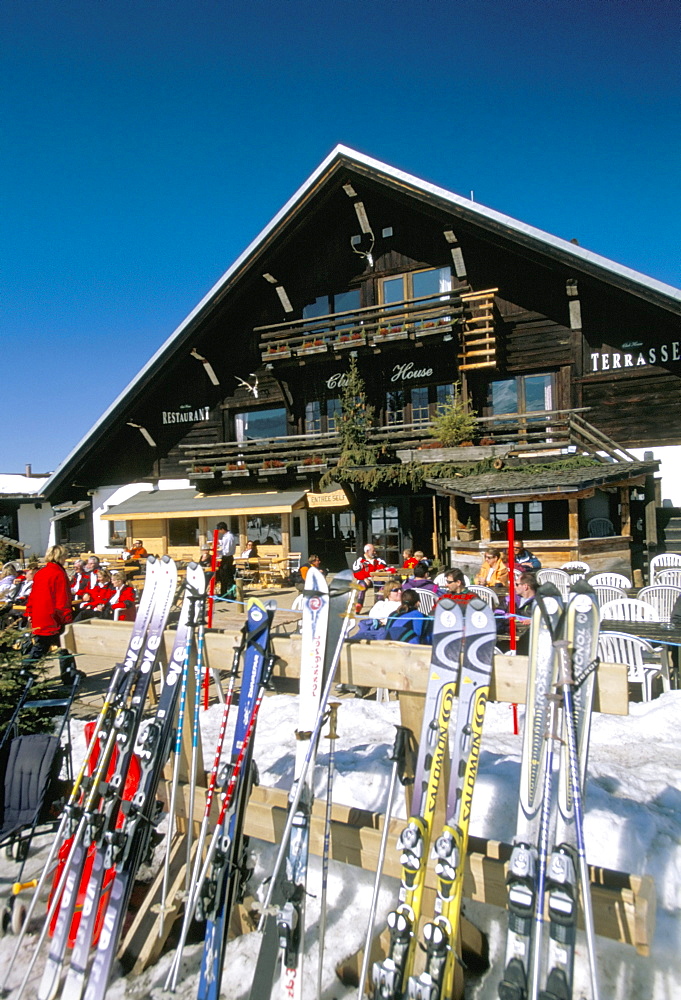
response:
M505 449L505 457L552 457L565 454L589 455L600 461L635 461L633 455L589 424L583 417L587 408L579 410L542 410L527 414L480 417L470 452L465 448L457 460L477 461L479 449L490 447L490 455ZM369 443L382 446L397 461L438 462L442 457L429 429L431 422L391 424L371 428ZM269 479L288 472L315 473L333 468L341 450L336 433L307 433L286 437L263 438L257 441L229 441L222 444L183 444L186 457L180 464L187 467L193 480L212 479L219 473L223 479ZM432 457L431 457L432 456Z

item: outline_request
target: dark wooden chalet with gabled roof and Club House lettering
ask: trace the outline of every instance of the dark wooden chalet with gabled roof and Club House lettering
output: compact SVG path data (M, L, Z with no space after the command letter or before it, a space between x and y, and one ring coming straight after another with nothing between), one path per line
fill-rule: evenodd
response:
M44 492L91 496L112 547L198 551L231 517L331 568L365 539L479 561L513 516L545 565L642 565L657 463L631 449L681 443L680 312L677 289L338 146ZM351 357L380 468L410 472L361 497L319 486ZM442 453L455 383L479 419Z

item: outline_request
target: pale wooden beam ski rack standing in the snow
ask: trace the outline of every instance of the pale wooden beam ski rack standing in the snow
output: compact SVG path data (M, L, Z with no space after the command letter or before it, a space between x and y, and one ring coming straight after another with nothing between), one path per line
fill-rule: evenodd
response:
M118 646L124 650L130 625L122 622L89 621L67 627L64 643L79 655L78 665L86 673L96 672L101 665L110 665ZM166 635L166 646L172 644L172 634ZM207 666L227 669L231 663L234 646L240 640L236 629L206 632L205 658ZM277 656L273 676L293 679L298 676L300 665L300 637L272 636L272 650ZM396 651L399 650L399 656ZM420 732L424 692L430 664L430 647L403 643L351 643L345 646L337 673L337 680L344 684L364 687L383 687L396 691L400 703L401 723L413 732ZM211 673L212 673L211 670ZM495 657L494 674L490 688L490 701L523 703L527 657ZM627 668L623 664L601 663L594 697L594 711L614 715L628 714ZM510 713L509 713L510 719ZM510 722L509 722L510 726ZM185 747L185 753L186 753ZM188 758L187 758L188 761ZM187 761L182 777L188 775ZM199 769L200 777L203 769ZM407 794L409 790L406 789ZM166 783L159 786L159 797L166 796ZM200 822L204 809L205 789L197 788L192 819ZM442 796L440 799L442 800ZM181 891L184 885L186 817L189 811L189 786L181 784L178 795L178 834L172 847L170 904L179 912L182 906ZM409 803L408 803L409 805ZM443 801L438 810L443 809ZM245 833L268 842L278 842L286 820L287 793L282 790L256 786L252 789L245 819ZM440 813L442 815L442 813ZM184 821L182 817L185 817ZM380 815L358 809L334 806L331 826L331 857L334 860L375 871L381 839ZM437 826L437 815L436 823ZM321 854L324 831L324 805L316 803L312 812L310 851ZM390 839L397 840L404 820L391 823ZM505 907L507 890L506 867L511 846L500 841L469 838L468 857L464 875L464 896L467 899ZM400 866L394 852L387 852L384 873L399 877ZM648 955L655 928L655 884L650 876L629 875L604 868L591 868L591 892L596 933L629 944L641 955ZM427 891L435 891L432 866L426 876ZM154 912L156 907L156 912ZM119 959L126 970L139 974L158 958L164 939L158 936L157 883L154 882L139 906L135 919L128 929L119 951ZM172 912L166 916L166 933L172 927ZM243 909L235 910L233 929L238 933L252 929L250 915ZM473 951L474 929L464 921L462 925L464 950ZM473 942L473 943L471 943ZM378 947L374 941L374 950ZM482 945L479 945L481 948ZM346 963L350 979L357 976L361 956ZM457 963L458 965L458 963ZM354 971L353 971L354 970Z

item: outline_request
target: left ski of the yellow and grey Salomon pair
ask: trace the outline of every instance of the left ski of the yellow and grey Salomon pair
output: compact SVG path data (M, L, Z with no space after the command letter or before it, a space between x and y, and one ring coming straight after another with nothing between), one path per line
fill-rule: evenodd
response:
M402 865L399 902L388 915L388 955L373 966L374 1000L400 1000L411 971L437 792L445 758L449 754L449 723L459 679L463 628L459 602L450 598L439 601L435 606L430 674L416 759L411 817L397 843Z

